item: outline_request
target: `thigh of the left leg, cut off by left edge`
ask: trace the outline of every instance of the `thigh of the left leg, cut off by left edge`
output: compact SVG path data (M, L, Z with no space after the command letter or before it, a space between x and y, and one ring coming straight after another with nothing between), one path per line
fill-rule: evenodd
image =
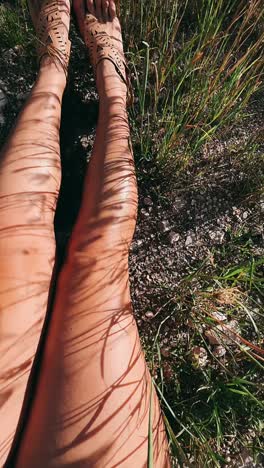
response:
M36 194L0 199L0 466L16 433L47 308L55 242L52 223L37 221L41 209Z

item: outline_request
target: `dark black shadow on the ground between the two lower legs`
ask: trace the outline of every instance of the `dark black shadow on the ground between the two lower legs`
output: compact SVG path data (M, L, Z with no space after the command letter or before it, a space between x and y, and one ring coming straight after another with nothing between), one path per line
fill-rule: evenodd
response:
M63 100L61 122L62 184L55 216L60 257L64 255L66 243L78 215L97 114L96 101L83 102L74 90L67 90Z

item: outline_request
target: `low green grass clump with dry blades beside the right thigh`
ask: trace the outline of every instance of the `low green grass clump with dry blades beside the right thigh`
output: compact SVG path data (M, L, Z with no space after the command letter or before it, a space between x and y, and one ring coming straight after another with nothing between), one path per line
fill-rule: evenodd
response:
M238 239L230 239L230 249L234 242ZM264 368L264 315L256 310L257 297L263 296L263 258L253 257L250 245L246 250L241 239L238 246L244 251L241 264L223 267L218 254L214 267L203 262L170 291L170 301L147 352L157 375L155 385L165 411L171 452L180 466L189 466L191 458L198 468L223 466L223 449L229 441L237 450L246 447L256 457L263 451L264 386L260 376ZM221 323L216 312L228 318L218 335L225 358L215 355L204 335L205 329L215 329ZM163 328L174 316L179 324L177 334L184 327L188 340L167 351L164 358ZM241 331L232 335L230 343L225 337L232 319L238 320ZM255 344L249 338L252 331ZM207 365L193 365L190 355L195 346L207 353ZM248 431L255 434L254 439L248 437Z

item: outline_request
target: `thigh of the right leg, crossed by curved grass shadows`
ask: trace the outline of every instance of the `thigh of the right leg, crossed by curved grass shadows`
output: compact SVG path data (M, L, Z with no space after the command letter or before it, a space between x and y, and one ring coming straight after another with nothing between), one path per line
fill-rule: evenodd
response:
M127 250L101 241L71 251L61 272L18 467L38 460L40 467L145 467L150 421L155 466L169 466L132 314Z

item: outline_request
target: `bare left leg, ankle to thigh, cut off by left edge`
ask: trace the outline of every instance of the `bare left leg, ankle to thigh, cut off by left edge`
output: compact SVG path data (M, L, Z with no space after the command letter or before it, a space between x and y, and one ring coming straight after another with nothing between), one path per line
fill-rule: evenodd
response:
M0 466L12 444L54 263L65 74L42 62L0 157Z

